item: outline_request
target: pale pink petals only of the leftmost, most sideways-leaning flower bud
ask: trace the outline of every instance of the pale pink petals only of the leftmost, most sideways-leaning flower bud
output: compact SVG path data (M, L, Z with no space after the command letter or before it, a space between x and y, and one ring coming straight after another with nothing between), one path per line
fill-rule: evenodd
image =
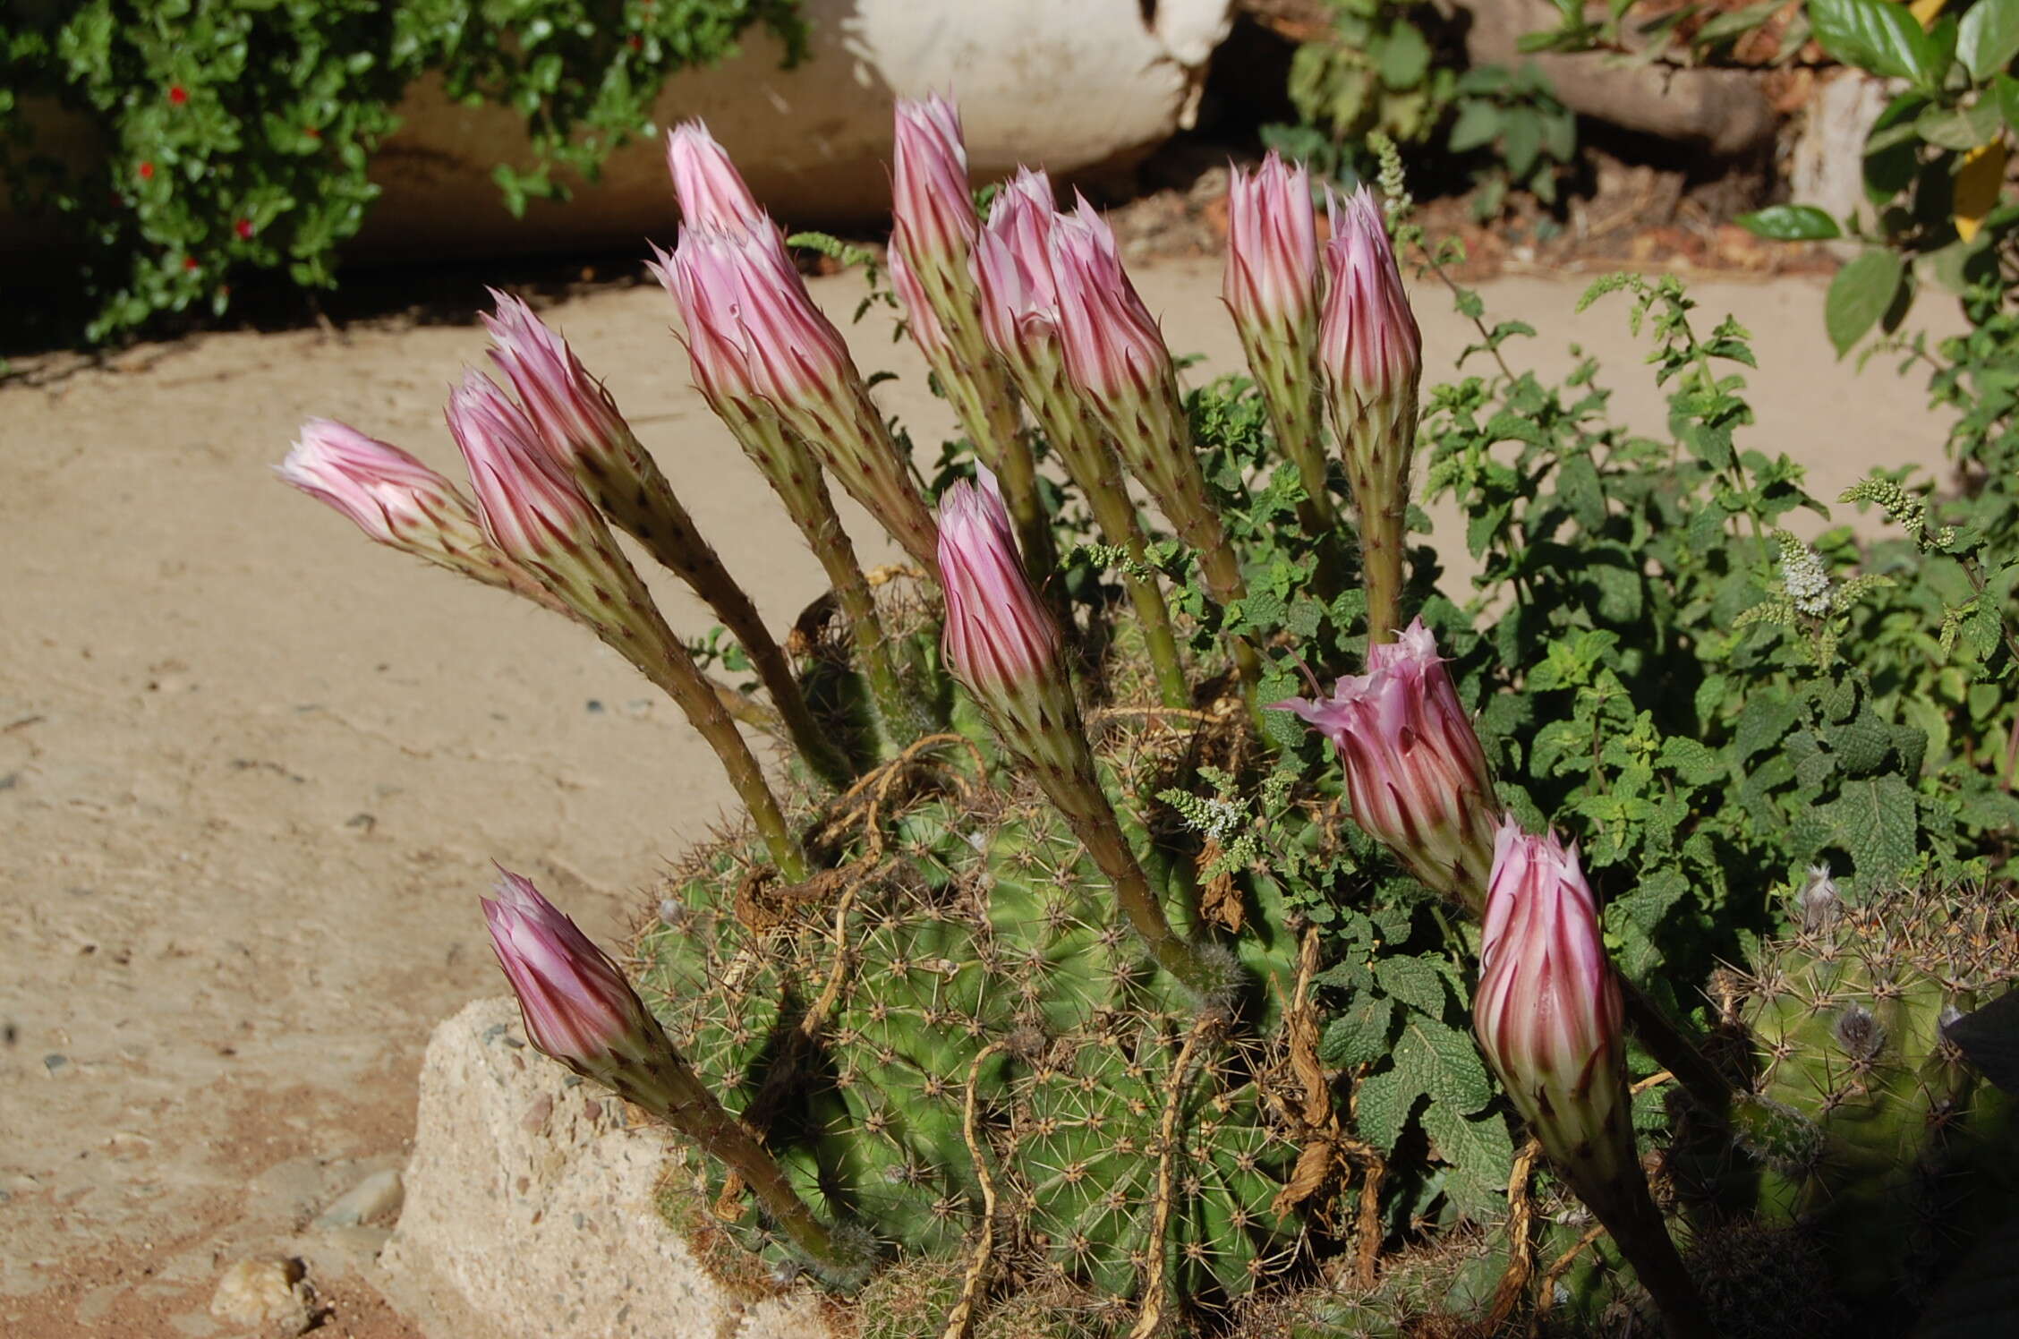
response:
M390 442L365 436L333 418L301 424L287 458L277 467L281 483L329 503L380 543L410 547L440 527L444 517L466 521L476 515L456 487Z

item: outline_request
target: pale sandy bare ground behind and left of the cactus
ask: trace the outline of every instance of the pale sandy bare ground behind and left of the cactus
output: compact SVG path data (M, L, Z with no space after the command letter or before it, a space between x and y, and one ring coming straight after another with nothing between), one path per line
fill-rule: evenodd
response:
M852 279L818 287L854 303ZM1234 366L1211 267L1149 269L1141 287L1175 347ZM1545 372L1567 341L1605 351L1621 404L1658 430L1623 307L1575 315L1577 293L1486 289L1543 331ZM1819 495L1938 456L1918 384L1831 359L1819 283L1698 295L1759 333L1750 442L1809 462ZM1468 333L1421 299L1436 372ZM816 563L686 386L664 295L602 291L549 319L787 624ZM854 337L864 368L900 374L886 406L937 440L951 416L909 345L882 317ZM311 412L446 467L444 388L481 351L472 327L232 333L0 388L8 1335L230 1333L206 1313L220 1268L309 1250L331 1198L398 1165L430 1026L499 990L476 915L487 862L614 935L725 816L711 755L592 638L374 549L269 477ZM680 630L711 622L660 590ZM349 1240L353 1258L369 1240ZM313 1264L325 1333L420 1333L343 1258Z

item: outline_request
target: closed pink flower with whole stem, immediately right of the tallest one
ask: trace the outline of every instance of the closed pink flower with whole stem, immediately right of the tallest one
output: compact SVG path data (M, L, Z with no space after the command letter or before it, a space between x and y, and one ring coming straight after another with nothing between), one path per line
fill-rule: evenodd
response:
M1066 473L1086 495L1102 539L1143 561L1147 539L1123 485L1114 446L1066 384L1050 254L1056 216L1052 182L1042 172L1026 168L995 194L973 254L981 331ZM1143 628L1163 705L1189 707L1191 689L1177 654L1171 610L1155 576L1125 574L1123 582Z

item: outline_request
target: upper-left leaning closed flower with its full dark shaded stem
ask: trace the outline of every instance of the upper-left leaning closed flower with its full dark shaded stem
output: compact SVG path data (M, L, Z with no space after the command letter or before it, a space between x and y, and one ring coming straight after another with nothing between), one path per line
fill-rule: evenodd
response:
M573 475L606 517L715 610L749 654L800 757L830 786L846 786L852 778L848 757L814 719L791 662L749 594L701 537L666 475L624 422L616 400L531 307L497 289L491 297L497 301L497 311L485 317L493 339L491 357L519 392L537 442Z

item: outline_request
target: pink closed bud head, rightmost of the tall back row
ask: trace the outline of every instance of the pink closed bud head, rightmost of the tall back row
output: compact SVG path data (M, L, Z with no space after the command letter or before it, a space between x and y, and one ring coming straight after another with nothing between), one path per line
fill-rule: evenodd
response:
M1335 220L1324 246L1324 317L1318 364L1339 394L1359 404L1415 398L1423 370L1423 333L1395 269L1381 206L1361 186ZM1413 418L1411 418L1413 424Z

